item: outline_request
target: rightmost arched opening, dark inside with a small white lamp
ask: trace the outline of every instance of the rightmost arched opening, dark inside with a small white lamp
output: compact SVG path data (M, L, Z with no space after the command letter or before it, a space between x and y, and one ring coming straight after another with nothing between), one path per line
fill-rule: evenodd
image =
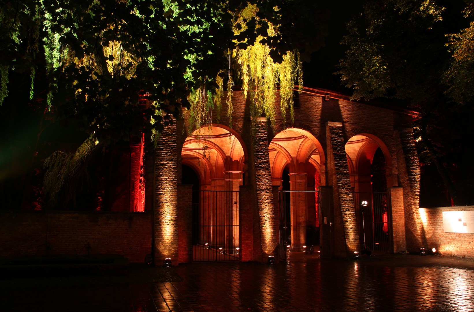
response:
M392 159L383 142L372 135L356 135L346 143L361 248L391 250L390 207Z

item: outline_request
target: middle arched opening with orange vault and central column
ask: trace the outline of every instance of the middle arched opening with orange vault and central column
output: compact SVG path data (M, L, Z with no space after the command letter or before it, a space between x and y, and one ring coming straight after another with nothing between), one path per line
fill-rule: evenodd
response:
M326 181L321 144L310 132L289 128L275 135L269 155L272 184L281 191L280 245L294 251L319 245L318 189Z

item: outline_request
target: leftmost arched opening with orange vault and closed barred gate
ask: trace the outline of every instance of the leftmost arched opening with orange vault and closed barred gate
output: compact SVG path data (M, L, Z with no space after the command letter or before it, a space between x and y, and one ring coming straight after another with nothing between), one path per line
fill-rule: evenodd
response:
M188 179L185 173L192 175L185 166L200 180L193 190L193 261L239 259L238 191L246 159L241 142L235 131L221 125L204 126L184 141L182 181Z

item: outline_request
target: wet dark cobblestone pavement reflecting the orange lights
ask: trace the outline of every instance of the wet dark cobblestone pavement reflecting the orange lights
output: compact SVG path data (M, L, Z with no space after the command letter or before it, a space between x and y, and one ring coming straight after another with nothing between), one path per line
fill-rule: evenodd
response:
M0 311L473 311L474 261L383 255L359 261L296 257L274 266L195 263L181 278L0 280ZM147 273L148 272L148 273ZM138 277L137 277L138 276Z

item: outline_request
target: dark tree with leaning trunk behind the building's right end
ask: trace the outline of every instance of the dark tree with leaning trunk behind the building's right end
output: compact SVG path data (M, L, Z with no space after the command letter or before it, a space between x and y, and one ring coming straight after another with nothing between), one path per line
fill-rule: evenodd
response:
M354 88L354 100L385 97L420 112L414 124L420 161L436 165L454 203L465 204L469 190L460 192L463 183L451 165L459 152L453 138L463 129L443 83L450 62L444 10L430 0L365 1L364 12L347 24L342 44L349 50L337 73Z

